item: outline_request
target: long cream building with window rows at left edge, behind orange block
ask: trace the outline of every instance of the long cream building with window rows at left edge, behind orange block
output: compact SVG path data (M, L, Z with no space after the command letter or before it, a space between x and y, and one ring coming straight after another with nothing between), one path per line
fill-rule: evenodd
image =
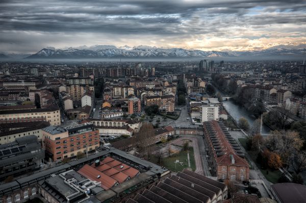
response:
M61 124L61 113L58 106L53 105L46 108L24 108L0 110L0 123L18 123L32 121L47 121L50 125Z

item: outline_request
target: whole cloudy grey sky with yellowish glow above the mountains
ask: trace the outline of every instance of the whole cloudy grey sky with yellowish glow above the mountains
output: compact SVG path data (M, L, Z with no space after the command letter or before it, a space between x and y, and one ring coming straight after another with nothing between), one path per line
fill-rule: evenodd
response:
M306 43L299 0L1 0L0 52L107 44L254 50Z

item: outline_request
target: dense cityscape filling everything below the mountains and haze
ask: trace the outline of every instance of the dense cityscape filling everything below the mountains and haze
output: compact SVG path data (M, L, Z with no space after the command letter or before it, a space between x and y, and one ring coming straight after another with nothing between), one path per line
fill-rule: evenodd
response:
M2 202L290 202L284 187L302 202L305 71L303 61L3 62Z

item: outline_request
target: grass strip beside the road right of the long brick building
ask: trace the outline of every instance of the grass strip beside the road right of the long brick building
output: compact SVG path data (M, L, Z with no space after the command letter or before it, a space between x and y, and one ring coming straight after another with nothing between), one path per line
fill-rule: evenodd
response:
M246 138L238 138L239 142L241 143L242 147L246 150ZM270 168L267 169L262 169L260 163L258 163L256 161L257 159L257 152L254 151L247 151L247 153L249 154L249 156L251 157L251 161L253 161L254 163L256 163L257 167L260 168L261 172L263 173L263 175L266 177L266 179L268 181L270 181L271 183L278 183L278 179L282 176L282 172L279 170L271 170ZM269 173L267 174L267 171L269 171Z

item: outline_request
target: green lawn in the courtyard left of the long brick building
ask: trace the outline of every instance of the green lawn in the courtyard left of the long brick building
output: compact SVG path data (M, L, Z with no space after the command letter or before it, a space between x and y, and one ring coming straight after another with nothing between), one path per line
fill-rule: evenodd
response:
M193 154L193 148L189 147L189 158L190 158L190 166L193 171L195 171L195 161L194 161L194 154ZM175 168L175 160L180 160L180 162L183 162L183 165L181 166L180 163L176 163ZM173 171L173 172L179 172L182 171L184 168L188 168L188 161L187 161L187 151L181 151L179 154L172 155L171 157L164 158L162 160L162 166L166 167L167 169Z

